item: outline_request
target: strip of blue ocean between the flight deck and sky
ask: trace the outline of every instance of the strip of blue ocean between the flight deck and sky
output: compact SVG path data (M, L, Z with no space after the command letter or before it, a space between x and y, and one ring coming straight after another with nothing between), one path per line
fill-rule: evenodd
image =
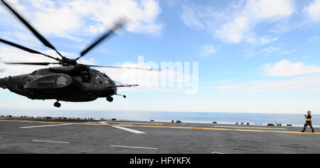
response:
M79 110L40 110L40 109L0 109L0 115L11 116L51 116L75 118L118 118L143 120L174 121L216 121L242 122L262 125L262 123L286 123L302 125L304 114L287 113L203 113L203 112L168 112L168 111L79 111ZM312 114L312 124L320 125L320 114Z

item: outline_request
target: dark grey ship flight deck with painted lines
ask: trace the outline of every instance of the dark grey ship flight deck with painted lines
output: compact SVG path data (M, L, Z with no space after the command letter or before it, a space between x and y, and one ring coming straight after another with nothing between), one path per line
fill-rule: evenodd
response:
M320 128L119 119L0 118L6 154L320 153Z

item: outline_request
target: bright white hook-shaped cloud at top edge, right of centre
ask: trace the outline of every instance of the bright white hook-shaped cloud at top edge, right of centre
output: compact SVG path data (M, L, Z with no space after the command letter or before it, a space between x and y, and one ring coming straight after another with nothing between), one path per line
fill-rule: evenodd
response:
M215 30L215 35L229 43L246 43L265 45L278 38L262 35L257 38L252 33L252 28L262 22L272 23L287 18L294 13L292 1L250 0L245 6L238 6L241 10L235 11L232 21L227 21L220 29Z

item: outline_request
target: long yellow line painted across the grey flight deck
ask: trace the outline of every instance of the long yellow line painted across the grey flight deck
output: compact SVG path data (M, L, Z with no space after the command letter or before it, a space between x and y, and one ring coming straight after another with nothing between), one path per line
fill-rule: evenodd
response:
M66 122L50 122L50 121L9 121L0 120L5 122L17 122L17 123L61 123ZM196 130L236 130L245 132L260 132L260 133L299 133L299 134L317 134L320 133L301 133L297 131L281 131L281 130L248 130L248 129L231 129L231 128L198 128L198 127L176 127L176 126L160 126L160 125L119 125L119 124L101 124L101 123L68 123L74 125L106 125L106 126L122 126L122 127L142 127L142 128L179 128L179 129L196 129Z

